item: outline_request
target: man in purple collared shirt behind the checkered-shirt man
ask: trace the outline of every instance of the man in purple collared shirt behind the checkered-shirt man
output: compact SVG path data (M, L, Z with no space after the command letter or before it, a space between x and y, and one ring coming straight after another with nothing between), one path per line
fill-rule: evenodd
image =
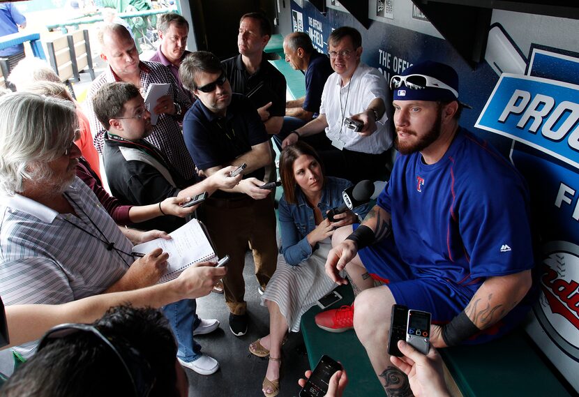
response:
M167 66L179 82L179 86L183 88L181 78L179 78L179 65L181 65L183 58L191 53L185 50L189 35L189 22L176 13L162 14L157 17L157 31L161 44L149 61L160 62ZM190 96L190 100L193 103L193 100L195 100L193 95L189 91L183 91Z

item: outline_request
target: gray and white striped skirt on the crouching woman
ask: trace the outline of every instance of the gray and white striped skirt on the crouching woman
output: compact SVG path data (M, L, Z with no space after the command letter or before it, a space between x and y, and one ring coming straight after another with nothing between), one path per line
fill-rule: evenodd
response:
M314 306L319 298L337 287L324 270L329 250L330 239L321 241L312 256L299 266L290 266L283 255L278 256L278 267L267 283L261 303L265 306L266 299L276 302L287 320L290 332L299 331L299 321L303 313Z

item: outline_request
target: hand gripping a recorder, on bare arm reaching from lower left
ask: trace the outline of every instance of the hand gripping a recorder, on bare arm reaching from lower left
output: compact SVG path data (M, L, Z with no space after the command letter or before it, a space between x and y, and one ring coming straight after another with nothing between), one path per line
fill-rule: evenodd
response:
M215 267L211 262L192 264L179 275L179 287L183 299L195 299L208 295L213 286L227 274L227 267Z

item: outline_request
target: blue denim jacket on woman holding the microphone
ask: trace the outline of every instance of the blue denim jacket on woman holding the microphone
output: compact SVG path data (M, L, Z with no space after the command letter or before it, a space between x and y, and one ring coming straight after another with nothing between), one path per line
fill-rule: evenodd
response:
M333 207L344 204L342 191L352 182L345 179L325 177L326 183L322 191L322 198L317 207L322 212L324 219L327 217L326 211ZM288 204L282 196L279 205L281 248L285 262L296 266L303 260L308 259L317 248L312 248L306 236L315 229L314 210L306 202L306 197L299 188L296 189L297 204ZM368 213L368 204L361 205L354 209L361 218Z

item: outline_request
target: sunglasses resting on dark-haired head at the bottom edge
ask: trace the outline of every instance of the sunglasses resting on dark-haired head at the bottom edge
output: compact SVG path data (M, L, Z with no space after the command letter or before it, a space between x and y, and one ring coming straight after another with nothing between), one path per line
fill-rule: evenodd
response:
M66 338L67 336L77 334L79 332L87 332L96 336L98 340L110 347L112 352L126 370L126 373L133 384L135 397L146 397L151 393L153 385L156 382L156 377L151 370L149 362L142 357L134 347L122 338L111 338L104 336L100 331L89 324L61 324L50 329L38 343L38 352L44 347L52 343L54 340Z

